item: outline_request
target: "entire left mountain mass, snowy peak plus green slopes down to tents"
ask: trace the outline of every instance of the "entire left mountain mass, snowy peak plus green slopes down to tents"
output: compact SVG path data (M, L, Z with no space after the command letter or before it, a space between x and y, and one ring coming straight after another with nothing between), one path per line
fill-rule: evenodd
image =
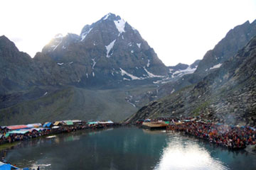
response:
M0 123L63 119L119 121L146 102L169 69L139 32L107 14L80 35L56 35L31 58L0 37Z

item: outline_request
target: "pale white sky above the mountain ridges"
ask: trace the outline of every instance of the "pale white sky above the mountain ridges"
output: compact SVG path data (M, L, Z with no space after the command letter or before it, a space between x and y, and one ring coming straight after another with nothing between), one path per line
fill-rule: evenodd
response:
M256 0L0 0L0 35L34 57L57 33L114 13L139 30L166 66L192 64L228 30L256 19Z

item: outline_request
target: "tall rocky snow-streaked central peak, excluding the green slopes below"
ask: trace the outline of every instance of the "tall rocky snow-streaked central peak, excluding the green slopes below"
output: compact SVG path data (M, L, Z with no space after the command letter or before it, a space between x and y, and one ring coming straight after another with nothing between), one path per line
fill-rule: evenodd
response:
M58 34L42 53L73 70L81 86L116 86L124 81L154 81L169 69L153 48L124 19L108 13L80 35Z

